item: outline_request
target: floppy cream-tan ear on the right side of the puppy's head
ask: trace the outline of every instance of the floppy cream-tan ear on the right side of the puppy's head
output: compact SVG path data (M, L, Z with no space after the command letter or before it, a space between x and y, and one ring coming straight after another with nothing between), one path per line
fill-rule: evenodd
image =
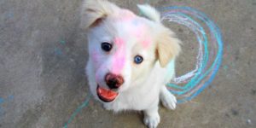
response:
M169 61L175 59L175 57L177 57L179 54L181 50L181 41L175 37L171 30L165 28L164 26L163 29L164 30L159 33L160 35L157 38L156 56L160 61L160 66L166 67Z

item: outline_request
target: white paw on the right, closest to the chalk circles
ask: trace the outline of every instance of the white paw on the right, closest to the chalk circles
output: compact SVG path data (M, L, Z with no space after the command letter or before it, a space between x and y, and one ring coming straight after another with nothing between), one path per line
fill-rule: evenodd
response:
M162 102L163 106L169 109L176 108L176 97L172 95L172 93L167 90L166 86L163 86L160 90L160 101Z

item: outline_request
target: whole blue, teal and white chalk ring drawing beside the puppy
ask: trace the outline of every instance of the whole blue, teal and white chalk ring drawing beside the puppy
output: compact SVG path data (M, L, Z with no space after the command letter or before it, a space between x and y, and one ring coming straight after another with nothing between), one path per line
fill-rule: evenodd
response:
M167 84L168 89L177 96L178 103L189 102L195 96L198 96L202 90L205 90L218 73L223 57L221 32L207 15L196 9L166 7L160 9L160 11L162 12L162 20L187 26L195 33L199 44L195 69L173 79L172 83ZM207 37L204 27L194 18L201 20L207 26L210 37Z

